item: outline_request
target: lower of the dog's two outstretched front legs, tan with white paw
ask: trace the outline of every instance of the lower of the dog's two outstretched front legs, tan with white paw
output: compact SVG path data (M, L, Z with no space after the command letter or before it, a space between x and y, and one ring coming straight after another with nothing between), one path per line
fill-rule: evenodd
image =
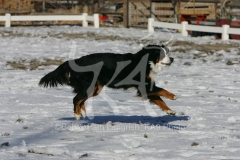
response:
M176 112L168 108L166 103L159 96L148 96L150 102L155 103L159 108L161 108L164 112L169 115L175 115Z

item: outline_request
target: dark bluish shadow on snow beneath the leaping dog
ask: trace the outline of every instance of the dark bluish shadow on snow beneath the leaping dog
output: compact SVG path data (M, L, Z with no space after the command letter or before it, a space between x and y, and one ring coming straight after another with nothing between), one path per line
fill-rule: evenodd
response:
M151 116L94 116L94 117L86 117L85 119L81 119L80 121L75 120L74 117L66 117L61 118L59 120L63 121L72 121L71 123L78 125L91 125L91 124L106 124L111 121L114 123L133 123L133 124L144 124L148 126L164 126L174 130L181 130L186 128L184 125L180 124L170 124L170 122L175 121L188 121L190 119L189 116L159 116L159 117L151 117Z

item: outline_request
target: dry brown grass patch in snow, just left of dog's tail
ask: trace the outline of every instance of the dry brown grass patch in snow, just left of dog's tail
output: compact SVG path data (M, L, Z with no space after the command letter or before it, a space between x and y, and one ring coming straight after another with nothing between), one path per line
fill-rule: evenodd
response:
M12 69L21 69L21 70L36 70L41 66L51 66L51 65L60 65L64 61L61 59L45 59L43 61L38 60L20 60L20 61L8 61L7 65L11 66Z

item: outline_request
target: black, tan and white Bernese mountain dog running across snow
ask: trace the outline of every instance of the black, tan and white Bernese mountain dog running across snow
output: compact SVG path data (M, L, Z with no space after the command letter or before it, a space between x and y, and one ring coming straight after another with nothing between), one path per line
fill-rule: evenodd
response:
M137 96L149 99L169 115L175 115L161 97L176 100L177 97L155 85L154 79L163 66L169 66L173 58L164 45L148 45L135 54L94 53L69 60L45 75L40 86L69 85L76 96L73 98L77 120L86 117L85 101L97 96L103 86L114 89L135 88Z

